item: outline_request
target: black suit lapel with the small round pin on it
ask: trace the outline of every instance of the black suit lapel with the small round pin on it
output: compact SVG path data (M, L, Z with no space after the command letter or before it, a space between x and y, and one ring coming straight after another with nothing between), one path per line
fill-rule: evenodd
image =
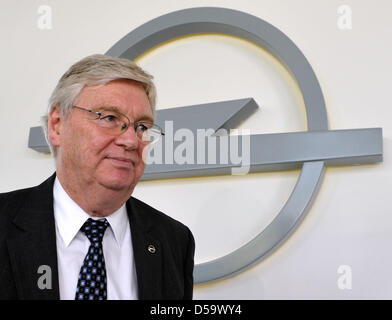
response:
M162 298L162 250L148 215L133 198L127 202L140 300Z

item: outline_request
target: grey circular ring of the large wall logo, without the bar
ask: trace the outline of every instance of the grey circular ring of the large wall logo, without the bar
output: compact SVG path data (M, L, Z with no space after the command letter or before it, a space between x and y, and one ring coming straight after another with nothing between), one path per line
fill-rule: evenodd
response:
M305 103L308 131L328 130L324 97L309 62L283 32L253 15L215 7L175 11L131 31L106 54L134 60L160 43L197 33L233 35L269 51L297 81ZM317 195L324 169L324 161L304 162L289 199L274 220L237 250L196 264L194 282L203 283L231 276L260 261L283 243L308 212Z

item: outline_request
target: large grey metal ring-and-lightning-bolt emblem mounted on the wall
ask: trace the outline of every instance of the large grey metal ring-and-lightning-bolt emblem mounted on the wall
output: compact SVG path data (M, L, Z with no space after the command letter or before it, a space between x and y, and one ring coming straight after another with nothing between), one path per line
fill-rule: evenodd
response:
M250 137L250 172L302 168L300 177L280 213L255 238L226 256L195 266L195 283L230 276L277 248L308 212L325 166L382 161L382 129L328 130L324 97L305 56L285 34L250 14L209 7L172 12L131 31L106 54L133 60L164 41L202 32L234 35L274 55L297 81L305 102L308 131ZM214 130L234 128L257 107L252 98L246 98L158 110L157 122L162 126L165 120L172 120L175 126L192 131L197 129L196 125ZM31 128L29 147L48 151L40 128ZM152 164L146 167L142 179L228 174L235 166L233 163Z

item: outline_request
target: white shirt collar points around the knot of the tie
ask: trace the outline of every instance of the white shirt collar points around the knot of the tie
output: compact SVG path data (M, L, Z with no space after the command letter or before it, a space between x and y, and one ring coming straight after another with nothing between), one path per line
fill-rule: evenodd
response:
M100 219L99 217L91 217L79 207L64 190L57 177L53 186L53 207L56 225L66 246L75 238L88 218ZM125 204L105 218L108 220L116 243L120 247L125 236L127 223L129 223Z

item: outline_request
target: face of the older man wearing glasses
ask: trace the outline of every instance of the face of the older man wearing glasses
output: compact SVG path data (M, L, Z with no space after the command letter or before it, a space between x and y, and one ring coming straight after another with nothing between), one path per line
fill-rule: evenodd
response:
M153 122L151 106L143 87L132 80L115 80L102 86L85 87L74 105L91 110L117 109L131 122ZM99 120L98 120L99 121ZM109 134L91 114L74 108L59 130L57 166L79 186L99 185L132 192L143 174L144 143L132 124L119 135ZM69 182L69 181L68 181Z

